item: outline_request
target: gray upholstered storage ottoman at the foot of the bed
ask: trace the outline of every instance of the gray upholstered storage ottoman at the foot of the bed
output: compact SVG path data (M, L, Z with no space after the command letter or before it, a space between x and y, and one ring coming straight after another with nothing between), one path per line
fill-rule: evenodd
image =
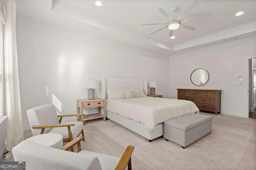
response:
M212 117L190 113L164 121L164 138L182 148L212 132Z

